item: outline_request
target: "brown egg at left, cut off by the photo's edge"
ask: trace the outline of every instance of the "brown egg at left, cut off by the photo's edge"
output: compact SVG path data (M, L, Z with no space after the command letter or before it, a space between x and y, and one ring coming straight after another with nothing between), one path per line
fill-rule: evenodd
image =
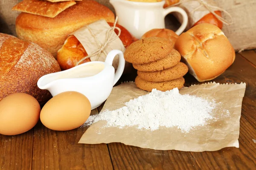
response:
M16 93L0 101L0 134L17 135L32 129L39 120L40 105L29 94Z

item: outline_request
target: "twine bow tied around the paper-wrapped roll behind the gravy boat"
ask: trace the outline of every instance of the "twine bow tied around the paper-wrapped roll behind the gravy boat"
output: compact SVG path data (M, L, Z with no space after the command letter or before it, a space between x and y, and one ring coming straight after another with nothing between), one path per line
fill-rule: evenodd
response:
M96 35L93 34L93 31L90 29L90 27L89 27L89 26L86 26L86 28L89 30L90 34L93 36L94 40L97 42L97 45L99 46L99 49L96 50L96 51L94 51L92 54L90 54L90 55L88 55L88 56L83 57L82 59L80 59L79 62L76 63L76 65L79 65L79 64L80 64L81 62L83 62L85 59L90 58L90 57L93 57L93 56L95 56L95 55L97 56L96 59L95 59L95 60L97 61L98 58L99 58L99 54L101 54L102 52L105 54L105 56L107 56L107 53L106 53L106 51L104 50L105 47L108 45L108 43L112 42L113 40L116 40L116 39L120 36L120 34L121 34L121 29L118 28L118 27L116 27L117 19L118 19L118 17L116 17L116 20L115 20L115 23L113 24L113 27L111 27L111 28L108 29L107 34L106 34L105 43L104 43L103 45L98 41L98 39L96 38ZM113 32L114 32L115 29L118 30L117 37L115 36L115 37L111 38L111 37L112 37L112 34L113 34ZM115 32L114 32L114 33L115 33Z

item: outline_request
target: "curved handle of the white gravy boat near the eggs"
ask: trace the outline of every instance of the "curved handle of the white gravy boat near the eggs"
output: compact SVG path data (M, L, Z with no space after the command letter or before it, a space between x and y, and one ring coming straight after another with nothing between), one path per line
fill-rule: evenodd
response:
M125 59L124 59L124 54L120 50L112 50L108 53L105 62L109 65L112 65L113 59L118 55L119 57L119 63L118 63L118 68L116 70L116 74L114 77L114 84L120 79L122 76L122 73L124 72L125 69Z

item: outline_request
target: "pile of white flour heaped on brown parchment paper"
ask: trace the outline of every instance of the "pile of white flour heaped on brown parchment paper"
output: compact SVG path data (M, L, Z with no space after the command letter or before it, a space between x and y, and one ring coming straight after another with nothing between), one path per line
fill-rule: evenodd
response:
M115 111L104 111L90 116L85 125L100 120L107 121L107 126L136 126L138 129L157 130L160 126L177 127L184 133L193 127L204 126L213 119L211 112L215 101L181 95L177 88L171 91L157 91L130 100L125 106Z

